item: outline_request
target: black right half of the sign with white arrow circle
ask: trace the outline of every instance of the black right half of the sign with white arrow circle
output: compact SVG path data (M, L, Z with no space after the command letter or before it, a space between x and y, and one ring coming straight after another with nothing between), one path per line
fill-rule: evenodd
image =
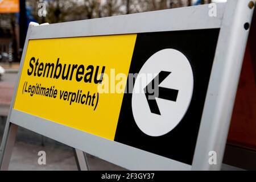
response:
M133 93L123 98L116 141L192 164L218 34L209 29L137 35L129 73L138 76Z

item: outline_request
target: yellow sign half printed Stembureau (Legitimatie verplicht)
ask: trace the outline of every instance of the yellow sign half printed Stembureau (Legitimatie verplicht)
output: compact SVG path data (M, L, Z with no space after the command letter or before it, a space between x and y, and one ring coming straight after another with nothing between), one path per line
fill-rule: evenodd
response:
M136 37L30 40L14 109L114 140L123 93L98 86L113 71L126 82Z

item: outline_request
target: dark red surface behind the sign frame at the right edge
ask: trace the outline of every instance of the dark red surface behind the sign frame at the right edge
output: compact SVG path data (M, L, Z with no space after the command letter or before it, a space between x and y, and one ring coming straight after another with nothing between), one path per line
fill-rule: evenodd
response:
M228 143L256 150L256 11L243 60Z

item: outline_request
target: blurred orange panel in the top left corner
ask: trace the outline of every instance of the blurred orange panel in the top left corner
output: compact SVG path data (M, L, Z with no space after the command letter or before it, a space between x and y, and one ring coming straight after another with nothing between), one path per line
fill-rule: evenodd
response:
M0 0L0 13L19 13L19 0Z

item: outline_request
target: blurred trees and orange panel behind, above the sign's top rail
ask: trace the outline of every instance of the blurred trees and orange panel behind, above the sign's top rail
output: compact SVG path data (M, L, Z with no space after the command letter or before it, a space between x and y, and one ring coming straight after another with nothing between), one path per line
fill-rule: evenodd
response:
M19 62L30 22L59 23L225 0L1 0L0 61Z

